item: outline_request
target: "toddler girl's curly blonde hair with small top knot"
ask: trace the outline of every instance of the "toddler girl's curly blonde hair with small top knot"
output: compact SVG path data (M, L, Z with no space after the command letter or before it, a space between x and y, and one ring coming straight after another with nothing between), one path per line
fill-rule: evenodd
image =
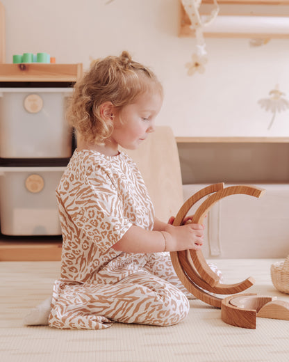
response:
M111 102L121 111L154 86L163 95L163 87L154 72L133 61L128 52L97 59L74 85L67 120L85 141L102 145L113 132L113 119L101 116L101 104Z

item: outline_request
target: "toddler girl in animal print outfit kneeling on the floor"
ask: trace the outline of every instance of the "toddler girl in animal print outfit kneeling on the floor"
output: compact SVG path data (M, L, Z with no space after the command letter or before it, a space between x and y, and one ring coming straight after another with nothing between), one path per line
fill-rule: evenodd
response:
M169 326L188 315L190 294L168 251L199 249L204 227L156 219L138 168L119 151L154 132L162 102L156 75L127 52L97 60L76 83L67 116L77 148L56 190L63 253L49 326Z

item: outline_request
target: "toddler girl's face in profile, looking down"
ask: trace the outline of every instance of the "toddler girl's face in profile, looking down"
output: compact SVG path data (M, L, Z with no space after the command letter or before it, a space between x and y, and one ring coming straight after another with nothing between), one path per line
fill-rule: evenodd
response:
M154 132L154 120L163 104L158 91L139 95L132 104L115 113L115 129L111 136L113 143L135 150L150 132Z

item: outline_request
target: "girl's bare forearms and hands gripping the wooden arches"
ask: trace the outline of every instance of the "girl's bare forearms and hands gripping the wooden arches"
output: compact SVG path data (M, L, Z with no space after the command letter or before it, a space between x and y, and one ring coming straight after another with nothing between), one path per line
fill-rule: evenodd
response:
M200 249L203 244L204 227L196 223L172 226L156 220L154 230L131 226L113 249L126 253L157 253Z

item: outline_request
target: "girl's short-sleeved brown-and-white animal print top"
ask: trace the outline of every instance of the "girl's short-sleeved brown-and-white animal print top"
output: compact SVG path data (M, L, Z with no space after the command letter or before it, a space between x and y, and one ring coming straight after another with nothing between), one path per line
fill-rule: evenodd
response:
M61 278L114 283L133 272L141 254L138 258L112 246L132 225L152 230L154 207L128 155L75 150L56 197L63 233Z

